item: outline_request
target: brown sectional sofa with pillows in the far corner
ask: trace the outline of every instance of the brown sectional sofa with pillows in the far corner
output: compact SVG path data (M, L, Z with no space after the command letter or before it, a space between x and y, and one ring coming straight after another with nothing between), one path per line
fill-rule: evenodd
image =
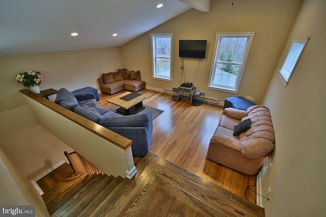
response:
M128 71L127 69L119 69L117 72L102 74L97 81L100 90L108 94L114 94L125 89L137 92L144 89L146 85L141 80L140 71Z

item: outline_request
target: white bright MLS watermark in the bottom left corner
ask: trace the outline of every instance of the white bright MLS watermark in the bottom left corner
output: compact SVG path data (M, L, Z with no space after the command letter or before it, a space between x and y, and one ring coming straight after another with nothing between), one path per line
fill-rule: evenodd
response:
M35 206L1 206L0 217L35 217Z

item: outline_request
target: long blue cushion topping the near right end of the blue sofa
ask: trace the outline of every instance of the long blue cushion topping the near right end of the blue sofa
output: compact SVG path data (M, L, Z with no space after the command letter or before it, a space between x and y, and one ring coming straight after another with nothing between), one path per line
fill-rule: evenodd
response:
M100 125L104 127L146 127L149 123L147 114L103 118Z

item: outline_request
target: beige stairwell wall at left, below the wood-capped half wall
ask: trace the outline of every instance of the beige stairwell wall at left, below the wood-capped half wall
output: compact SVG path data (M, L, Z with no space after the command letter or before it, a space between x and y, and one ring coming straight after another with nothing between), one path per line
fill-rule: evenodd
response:
M0 113L0 147L17 172L29 180L67 160L73 151L39 125L28 105Z

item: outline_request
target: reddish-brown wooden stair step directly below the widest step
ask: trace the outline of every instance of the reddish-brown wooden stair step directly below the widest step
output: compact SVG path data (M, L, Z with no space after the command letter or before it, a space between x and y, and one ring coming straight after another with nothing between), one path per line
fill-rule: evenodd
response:
M57 195L57 197L51 198L46 203L46 207L49 213L52 215L55 213L60 207L62 207L67 201L70 200L76 193L80 191L85 185L87 185L90 181L92 181L96 176L92 176L90 174L86 174L85 177L78 179L79 181L75 184L71 185L66 191L61 192Z

